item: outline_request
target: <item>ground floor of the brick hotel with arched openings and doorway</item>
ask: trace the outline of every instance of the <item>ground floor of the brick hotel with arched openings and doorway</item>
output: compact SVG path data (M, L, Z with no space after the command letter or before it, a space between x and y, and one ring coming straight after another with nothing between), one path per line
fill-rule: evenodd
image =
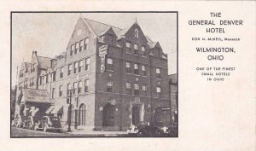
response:
M68 104L60 100L55 102L55 106L63 107L63 113L59 115L62 125L67 125ZM170 100L104 92L74 96L71 125L94 131L127 131L131 125L141 121L154 122L158 107L170 107Z

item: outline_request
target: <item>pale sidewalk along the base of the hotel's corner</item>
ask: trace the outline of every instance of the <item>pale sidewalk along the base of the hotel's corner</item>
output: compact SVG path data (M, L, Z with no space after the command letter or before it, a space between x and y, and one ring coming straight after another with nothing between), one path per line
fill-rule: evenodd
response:
M63 132L67 132L65 129ZM68 134L73 134L77 136L127 136L127 131L92 131L88 129L71 129Z

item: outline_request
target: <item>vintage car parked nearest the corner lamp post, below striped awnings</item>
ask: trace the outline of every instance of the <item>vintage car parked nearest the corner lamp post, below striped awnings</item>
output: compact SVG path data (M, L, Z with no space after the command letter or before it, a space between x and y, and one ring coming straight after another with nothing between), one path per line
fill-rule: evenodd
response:
M43 131L61 131L61 121L58 117L55 116L44 116L43 119L38 120L34 125L34 130L43 130Z

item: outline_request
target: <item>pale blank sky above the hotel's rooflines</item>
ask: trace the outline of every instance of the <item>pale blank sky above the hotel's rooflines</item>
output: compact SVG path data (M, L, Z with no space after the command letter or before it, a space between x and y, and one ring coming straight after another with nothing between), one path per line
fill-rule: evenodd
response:
M12 15L12 84L17 67L32 51L53 58L66 51L79 16L125 28L136 20L143 33L168 55L168 73L177 73L177 16L172 13L15 13Z

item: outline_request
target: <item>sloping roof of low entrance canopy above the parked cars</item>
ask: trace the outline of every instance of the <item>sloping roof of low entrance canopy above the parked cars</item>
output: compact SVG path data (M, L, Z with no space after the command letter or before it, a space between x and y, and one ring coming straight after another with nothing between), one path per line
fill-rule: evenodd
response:
M21 93L24 102L52 103L49 100L47 90L23 89Z

